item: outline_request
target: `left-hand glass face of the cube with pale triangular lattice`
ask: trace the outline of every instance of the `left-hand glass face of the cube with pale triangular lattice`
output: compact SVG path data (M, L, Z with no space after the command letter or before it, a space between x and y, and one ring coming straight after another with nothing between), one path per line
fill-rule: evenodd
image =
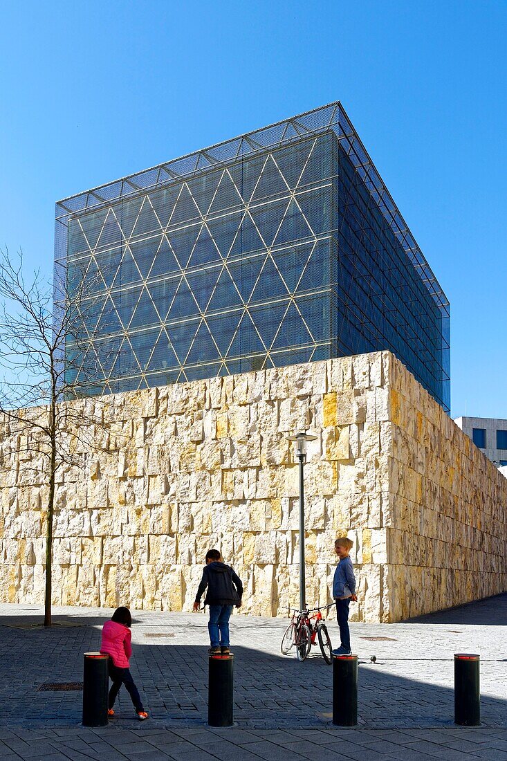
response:
M82 380L92 358L114 391L331 356L329 156L317 135L75 215L71 269L100 282Z

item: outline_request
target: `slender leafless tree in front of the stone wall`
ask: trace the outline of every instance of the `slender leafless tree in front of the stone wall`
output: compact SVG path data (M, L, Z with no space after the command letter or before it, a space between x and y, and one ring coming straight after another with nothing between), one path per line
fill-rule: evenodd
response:
M44 626L51 626L56 476L65 463L83 465L76 449L96 448L92 431L100 425L85 414L85 403L72 403L97 391L97 282L75 266L56 269L53 282L39 271L27 279L22 253L11 259L0 250L0 299L0 414L26 442L21 450L38 456L49 487ZM76 447L76 438L83 446Z

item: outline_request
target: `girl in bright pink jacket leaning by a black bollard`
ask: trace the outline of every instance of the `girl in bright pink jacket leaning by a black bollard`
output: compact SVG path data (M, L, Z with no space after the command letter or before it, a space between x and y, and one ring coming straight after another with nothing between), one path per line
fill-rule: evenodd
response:
M100 652L107 653L109 655L109 676L113 682L113 686L109 693L109 704L107 711L108 716L114 716L113 705L116 700L116 696L120 690L122 684L126 686L134 708L136 708L136 714L139 719L143 721L148 718L148 714L142 707L141 698L139 697L139 691L134 684L132 674L129 669L129 658L132 655L132 632L130 627L132 626L132 616L128 608L116 608L110 621L106 621L102 627L102 643L100 645Z

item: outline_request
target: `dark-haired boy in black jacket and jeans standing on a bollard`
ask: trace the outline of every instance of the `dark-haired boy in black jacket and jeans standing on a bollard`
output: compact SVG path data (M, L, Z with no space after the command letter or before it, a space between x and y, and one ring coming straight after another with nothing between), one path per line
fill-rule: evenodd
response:
M229 650L229 619L234 605L241 607L243 584L241 578L234 573L230 565L222 562L218 549L206 552L206 566L202 571L202 579L193 603L193 610L199 610L202 593L208 587L205 605L209 605L208 631L211 647L210 653L228 655Z

